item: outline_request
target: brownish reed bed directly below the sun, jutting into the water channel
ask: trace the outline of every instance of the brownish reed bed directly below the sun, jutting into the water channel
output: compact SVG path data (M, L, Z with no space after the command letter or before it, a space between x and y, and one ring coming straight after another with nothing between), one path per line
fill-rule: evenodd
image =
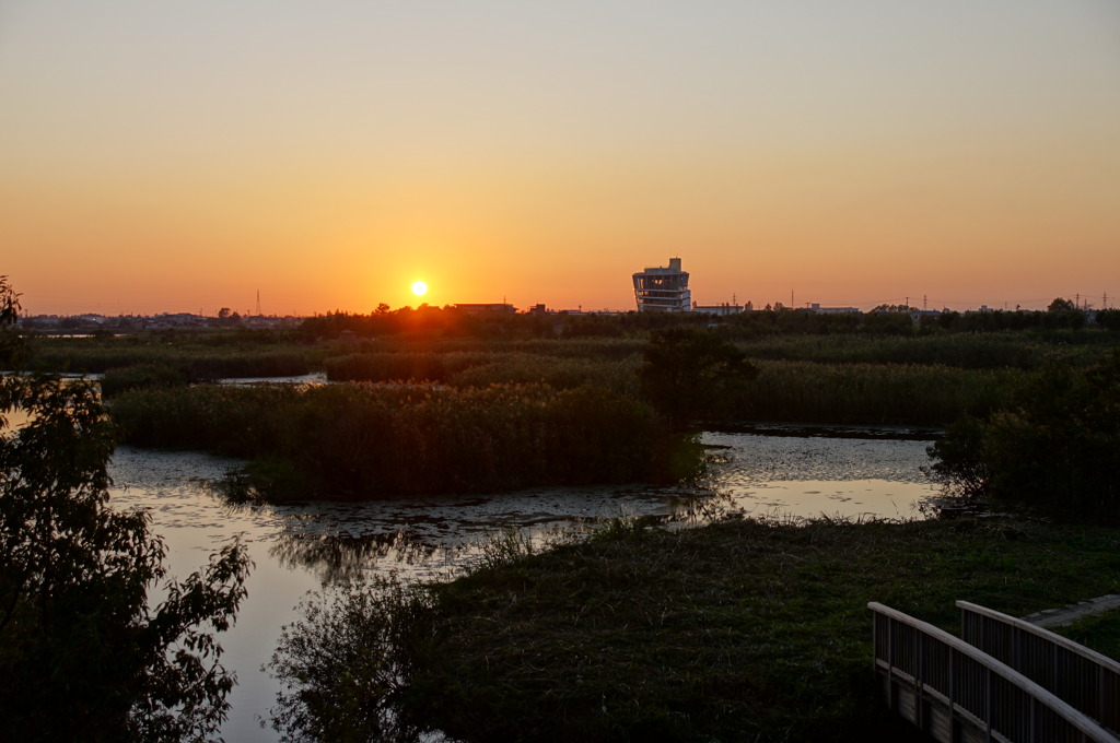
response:
M112 415L127 443L258 460L243 485L265 498L672 480L699 461L647 405L591 387L195 385L123 393Z

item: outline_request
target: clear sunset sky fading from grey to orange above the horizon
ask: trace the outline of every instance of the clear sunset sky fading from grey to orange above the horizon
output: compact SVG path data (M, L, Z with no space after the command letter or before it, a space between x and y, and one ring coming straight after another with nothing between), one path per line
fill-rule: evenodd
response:
M1120 305L1118 0L0 0L31 313ZM1113 298L1116 295L1116 299Z

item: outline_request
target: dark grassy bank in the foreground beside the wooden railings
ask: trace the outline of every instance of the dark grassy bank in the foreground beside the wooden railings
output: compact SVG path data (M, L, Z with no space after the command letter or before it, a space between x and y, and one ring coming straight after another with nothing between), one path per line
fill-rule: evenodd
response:
M618 525L411 598L355 592L291 628L274 668L304 675L286 709L336 734L388 704L470 742L906 740L875 697L868 601L956 631L958 599L1021 615L1120 591L1118 547L1010 519ZM1079 639L1120 652L1108 628Z

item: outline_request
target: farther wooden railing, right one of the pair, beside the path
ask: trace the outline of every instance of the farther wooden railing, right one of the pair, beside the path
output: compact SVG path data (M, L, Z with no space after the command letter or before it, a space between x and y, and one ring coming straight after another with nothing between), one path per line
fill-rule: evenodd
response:
M961 639L1010 666L1112 732L1120 731L1120 664L987 606L958 601Z

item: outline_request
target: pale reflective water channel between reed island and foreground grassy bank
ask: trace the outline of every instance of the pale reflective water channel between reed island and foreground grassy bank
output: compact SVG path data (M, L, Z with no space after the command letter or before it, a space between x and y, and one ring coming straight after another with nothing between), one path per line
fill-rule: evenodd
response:
M496 496L433 497L371 504L228 507L209 485L237 462L197 453L120 448L112 462L111 502L150 510L169 549L170 572L184 577L222 544L241 535L255 563L236 626L221 636L223 664L236 671L228 743L276 741L260 721L278 690L261 671L281 627L298 615L308 591L355 571L395 572L404 580L454 575L477 545L507 527L545 540L594 528L596 519L657 516L689 525L720 514L758 518L922 518L935 488L918 469L928 441L871 432L707 432L708 476L690 487L540 488ZM804 433L804 432L801 432ZM888 432L890 434L897 432Z

